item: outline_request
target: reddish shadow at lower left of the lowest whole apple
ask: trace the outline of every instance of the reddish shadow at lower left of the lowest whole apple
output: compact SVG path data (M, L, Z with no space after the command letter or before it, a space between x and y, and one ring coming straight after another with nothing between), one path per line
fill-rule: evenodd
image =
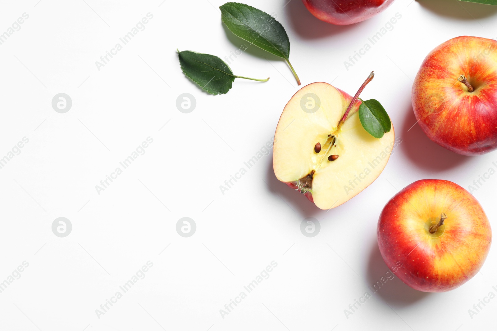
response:
M431 294L415 290L406 285L397 276L392 278L392 275L395 275L395 273L383 261L378 243L374 240L369 256L366 279L367 285L369 285L368 292L373 297L377 297L377 299L391 306L406 307ZM385 283L381 281L382 277L384 277L383 281L387 279Z

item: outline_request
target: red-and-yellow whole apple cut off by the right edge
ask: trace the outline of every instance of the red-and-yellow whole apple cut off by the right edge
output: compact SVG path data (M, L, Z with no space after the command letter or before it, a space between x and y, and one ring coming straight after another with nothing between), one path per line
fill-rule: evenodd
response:
M473 92L457 78L465 75ZM414 115L426 135L453 152L497 148L497 41L461 36L424 59L413 85Z

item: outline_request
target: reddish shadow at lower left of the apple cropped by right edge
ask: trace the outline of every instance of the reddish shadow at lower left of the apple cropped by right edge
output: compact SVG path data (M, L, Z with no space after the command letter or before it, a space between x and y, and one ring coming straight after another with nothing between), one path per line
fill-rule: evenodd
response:
M417 166L432 171L443 171L470 160L470 156L454 153L431 141L416 121L413 106L409 102L407 116L400 132L400 147Z

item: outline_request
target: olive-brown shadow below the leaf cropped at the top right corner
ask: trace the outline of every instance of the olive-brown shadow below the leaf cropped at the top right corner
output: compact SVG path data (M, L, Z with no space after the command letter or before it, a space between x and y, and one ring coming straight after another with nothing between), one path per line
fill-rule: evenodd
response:
M497 6L474 3L460 2L454 0L416 0L426 9L435 12L438 15L448 16L458 19L474 20L494 15L497 12Z

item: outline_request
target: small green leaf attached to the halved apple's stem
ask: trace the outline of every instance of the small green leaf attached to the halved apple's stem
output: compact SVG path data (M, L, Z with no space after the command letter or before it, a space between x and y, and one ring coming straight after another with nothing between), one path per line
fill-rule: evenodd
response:
M359 106L359 120L364 130L375 138L381 138L385 132L390 132L392 122L385 108L375 99L363 101Z

